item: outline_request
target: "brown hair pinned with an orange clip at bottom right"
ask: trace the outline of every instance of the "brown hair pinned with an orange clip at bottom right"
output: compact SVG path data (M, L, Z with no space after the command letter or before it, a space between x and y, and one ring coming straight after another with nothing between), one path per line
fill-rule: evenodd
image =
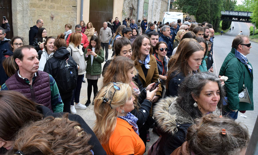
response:
M238 154L249 142L247 127L226 117L214 114L195 120L187 130L187 150L195 154ZM222 134L226 129L226 134Z

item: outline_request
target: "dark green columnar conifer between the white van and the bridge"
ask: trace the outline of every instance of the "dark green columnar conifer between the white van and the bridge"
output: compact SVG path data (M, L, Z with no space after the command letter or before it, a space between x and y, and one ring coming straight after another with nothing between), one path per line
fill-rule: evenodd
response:
M202 0L198 2L198 7L195 14L195 19L198 23L202 23L207 21L210 23L210 1L209 0Z

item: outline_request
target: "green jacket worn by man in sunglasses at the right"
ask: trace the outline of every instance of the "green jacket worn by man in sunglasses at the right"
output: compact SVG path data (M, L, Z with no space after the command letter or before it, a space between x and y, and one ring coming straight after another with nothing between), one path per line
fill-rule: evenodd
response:
M220 68L219 75L228 77L228 80L225 82L228 108L239 111L253 110L253 69L251 73L248 66L240 61L238 55L239 53L232 48ZM248 64L251 65L249 62ZM238 94L243 90L244 75L245 87L248 90L252 104L239 102Z

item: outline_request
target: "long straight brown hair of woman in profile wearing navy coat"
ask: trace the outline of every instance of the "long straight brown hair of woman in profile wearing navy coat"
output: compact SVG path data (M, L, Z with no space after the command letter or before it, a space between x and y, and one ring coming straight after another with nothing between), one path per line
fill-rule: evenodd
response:
M187 76L189 74L189 66L187 60L193 54L193 52L196 51L202 51L202 46L199 45L199 43L195 39L185 38L180 41L180 44L177 47L176 54L171 57L168 63L169 70L167 71L167 88L169 81L173 78L173 72L176 71L175 75L177 75L179 72L182 72L184 76Z

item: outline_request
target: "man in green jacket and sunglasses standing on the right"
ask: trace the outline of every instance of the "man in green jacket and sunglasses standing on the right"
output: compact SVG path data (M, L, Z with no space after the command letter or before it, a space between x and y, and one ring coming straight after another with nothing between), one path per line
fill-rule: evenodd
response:
M246 55L250 53L251 43L248 36L237 35L232 42L232 49L226 56L219 75L228 77L225 82L227 106L224 115L237 118L238 111L253 110L253 68ZM239 93L243 84L248 90L251 104L239 102Z

